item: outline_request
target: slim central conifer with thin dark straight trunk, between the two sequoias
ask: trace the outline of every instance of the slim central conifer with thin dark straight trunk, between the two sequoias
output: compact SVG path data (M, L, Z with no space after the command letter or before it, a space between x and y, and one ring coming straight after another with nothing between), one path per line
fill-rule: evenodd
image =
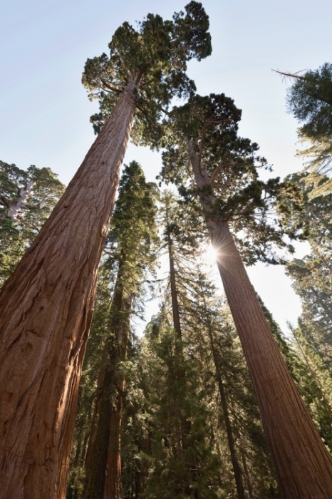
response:
M212 442L204 385L192 359L184 303L186 267L193 259L193 240L182 231L186 210L171 192L160 200L162 242L167 258L167 279L162 286L158 314L145 331L143 355L149 352L150 369L146 411L150 420L150 461L142 497L218 497L223 489L221 463ZM142 359L145 364L145 359Z

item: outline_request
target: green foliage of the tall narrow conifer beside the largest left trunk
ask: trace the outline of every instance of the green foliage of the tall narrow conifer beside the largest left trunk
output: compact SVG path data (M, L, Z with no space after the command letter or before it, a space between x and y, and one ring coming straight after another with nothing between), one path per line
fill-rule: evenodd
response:
M101 379L103 371L110 364L108 354L112 346L119 341L115 328L128 328L130 318L140 312L139 304L144 299L143 281L155 264L153 247L157 243L156 197L156 186L145 181L140 165L135 161L125 165L100 265L93 322L83 364L68 498L81 497L84 489L88 439L98 423L96 412L103 389L98 379ZM133 405L137 398L135 383L133 384L137 369L132 359L131 350L127 359L119 356L112 359L116 376L125 379L127 384L127 406ZM111 391L115 399L113 388Z

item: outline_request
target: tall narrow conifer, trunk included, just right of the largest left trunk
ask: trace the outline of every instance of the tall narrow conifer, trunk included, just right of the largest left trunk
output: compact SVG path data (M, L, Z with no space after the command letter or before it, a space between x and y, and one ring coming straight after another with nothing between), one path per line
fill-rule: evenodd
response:
M143 282L155 263L156 196L157 186L145 182L140 165L135 161L126 165L100 266L83 363L68 498L115 499L122 494L120 435L131 365L130 323L140 313Z

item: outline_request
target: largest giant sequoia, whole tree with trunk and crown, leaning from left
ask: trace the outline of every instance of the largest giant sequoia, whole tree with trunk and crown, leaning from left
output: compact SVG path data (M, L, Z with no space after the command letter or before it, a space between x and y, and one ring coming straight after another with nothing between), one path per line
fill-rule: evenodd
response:
M137 30L115 31L109 57L86 63L85 86L103 86L101 107L108 101L112 113L1 289L1 498L65 493L98 263L135 109L144 135L160 106L192 88L186 63L209 55L208 24L195 1L172 21L148 14Z

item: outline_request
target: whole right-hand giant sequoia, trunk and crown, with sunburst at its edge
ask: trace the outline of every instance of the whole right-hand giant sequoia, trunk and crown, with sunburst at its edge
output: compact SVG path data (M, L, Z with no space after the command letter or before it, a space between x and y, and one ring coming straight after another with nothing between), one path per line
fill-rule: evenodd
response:
M259 179L257 165L264 160L256 157L256 144L237 136L240 117L223 94L193 96L185 106L173 108L162 175L179 183L188 201L199 198L285 498L327 499L331 457L286 368L234 242L241 231L247 262L273 262L269 246L283 245L283 231L276 220L269 224L269 212L274 202L287 210L284 198L293 187L279 179Z

